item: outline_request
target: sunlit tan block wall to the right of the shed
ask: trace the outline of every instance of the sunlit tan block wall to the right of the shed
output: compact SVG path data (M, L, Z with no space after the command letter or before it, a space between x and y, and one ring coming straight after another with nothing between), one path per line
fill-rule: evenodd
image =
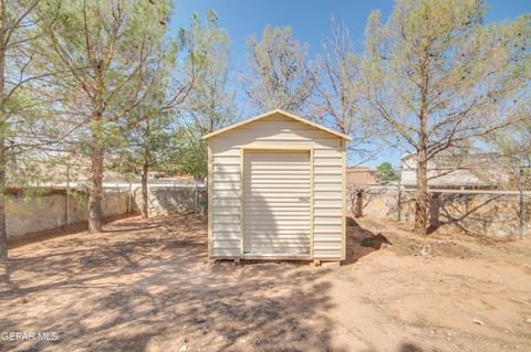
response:
M348 213L355 213L357 206L355 200L356 190L348 189L346 204ZM365 216L409 223L415 220L414 192L366 189L363 191L362 200L362 212ZM454 224L476 234L508 238L520 235L522 221L524 236L529 237L531 196L524 195L522 214L519 203L518 194L440 193L430 198L428 217L431 225Z

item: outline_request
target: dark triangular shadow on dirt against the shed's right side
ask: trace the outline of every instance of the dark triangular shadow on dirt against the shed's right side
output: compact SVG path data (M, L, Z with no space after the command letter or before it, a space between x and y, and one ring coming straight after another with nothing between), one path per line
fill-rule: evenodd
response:
M354 264L362 257L392 243L381 233L362 227L354 218L346 218L346 255L343 264Z

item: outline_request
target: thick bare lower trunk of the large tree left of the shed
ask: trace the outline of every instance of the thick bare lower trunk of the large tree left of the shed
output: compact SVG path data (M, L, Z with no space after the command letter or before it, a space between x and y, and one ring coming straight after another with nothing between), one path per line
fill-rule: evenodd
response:
M88 233L102 232L102 200L103 200L103 157L102 147L94 148L88 190Z

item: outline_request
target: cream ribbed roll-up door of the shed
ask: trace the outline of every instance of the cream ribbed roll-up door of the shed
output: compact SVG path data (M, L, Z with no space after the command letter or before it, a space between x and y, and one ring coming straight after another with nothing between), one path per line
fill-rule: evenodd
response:
M310 256L311 160L308 150L244 150L243 254Z

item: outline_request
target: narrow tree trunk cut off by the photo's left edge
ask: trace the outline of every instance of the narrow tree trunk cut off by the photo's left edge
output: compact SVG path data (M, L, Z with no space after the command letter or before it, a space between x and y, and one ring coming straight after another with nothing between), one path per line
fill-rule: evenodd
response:
M8 262L8 228L6 224L6 45L4 45L6 3L0 4L0 262Z

